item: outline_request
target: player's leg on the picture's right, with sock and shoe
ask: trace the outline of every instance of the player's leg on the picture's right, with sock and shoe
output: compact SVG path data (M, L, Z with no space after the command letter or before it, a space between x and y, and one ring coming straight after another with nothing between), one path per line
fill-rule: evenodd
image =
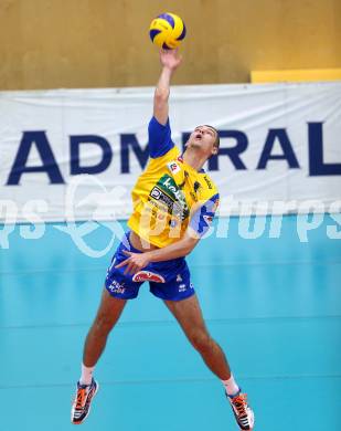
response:
M241 389L231 374L225 354L206 329L196 295L182 301L164 301L164 303L207 367L222 380L239 428L252 430L254 412L247 404L246 395L241 393Z

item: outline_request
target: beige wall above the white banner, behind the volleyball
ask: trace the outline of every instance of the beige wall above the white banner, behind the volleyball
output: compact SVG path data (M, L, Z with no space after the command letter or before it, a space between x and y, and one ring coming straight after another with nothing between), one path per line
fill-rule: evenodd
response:
M188 27L175 84L341 67L341 0L0 0L0 90L153 85L167 10Z

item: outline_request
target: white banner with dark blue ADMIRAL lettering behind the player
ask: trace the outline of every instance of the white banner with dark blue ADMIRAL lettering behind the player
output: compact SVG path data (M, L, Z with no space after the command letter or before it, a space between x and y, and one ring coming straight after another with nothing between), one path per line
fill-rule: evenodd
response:
M0 93L0 221L128 217L152 96L151 87ZM205 168L221 214L328 211L341 199L341 83L172 87L170 123L180 147L198 125L220 130Z

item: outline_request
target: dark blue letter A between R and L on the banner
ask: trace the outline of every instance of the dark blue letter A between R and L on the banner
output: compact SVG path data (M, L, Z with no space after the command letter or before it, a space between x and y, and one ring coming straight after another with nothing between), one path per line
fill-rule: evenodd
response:
M271 155L276 139L281 146L283 155ZM287 160L289 168L299 168L292 145L285 128L270 128L264 144L257 169L266 169L268 160Z

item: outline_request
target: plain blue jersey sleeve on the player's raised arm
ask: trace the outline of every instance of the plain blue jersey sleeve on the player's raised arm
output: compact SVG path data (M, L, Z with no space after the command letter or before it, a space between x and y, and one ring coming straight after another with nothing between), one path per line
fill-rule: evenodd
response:
M174 147L171 138L169 119L166 125L152 117L148 126L149 155L151 158L164 156Z

